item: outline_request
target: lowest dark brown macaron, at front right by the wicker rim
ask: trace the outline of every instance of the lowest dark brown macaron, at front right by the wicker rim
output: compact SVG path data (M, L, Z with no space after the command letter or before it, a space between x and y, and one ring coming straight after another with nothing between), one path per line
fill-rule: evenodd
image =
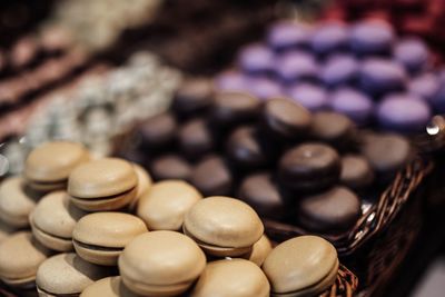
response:
M360 217L360 199L345 187L334 187L305 197L298 208L298 221L308 230L324 234L345 231Z

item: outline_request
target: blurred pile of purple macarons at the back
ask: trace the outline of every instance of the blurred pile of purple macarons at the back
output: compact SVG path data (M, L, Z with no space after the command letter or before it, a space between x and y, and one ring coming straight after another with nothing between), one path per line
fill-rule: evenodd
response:
M359 126L417 133L432 115L445 111L445 77L431 56L421 39L397 37L383 20L279 21L263 41L240 49L215 87L261 99L286 96Z

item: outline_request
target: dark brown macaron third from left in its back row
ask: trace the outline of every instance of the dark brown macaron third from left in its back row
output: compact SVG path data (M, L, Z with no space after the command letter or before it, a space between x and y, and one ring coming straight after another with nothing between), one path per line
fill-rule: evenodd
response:
M261 117L267 131L281 139L296 139L306 135L312 122L312 115L306 108L285 98L268 100Z

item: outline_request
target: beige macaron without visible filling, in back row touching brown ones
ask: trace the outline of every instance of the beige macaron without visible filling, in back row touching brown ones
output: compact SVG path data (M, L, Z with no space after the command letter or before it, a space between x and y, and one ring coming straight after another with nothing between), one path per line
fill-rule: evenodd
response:
M182 180L156 182L139 201L137 214L150 230L180 230L186 212L202 196Z

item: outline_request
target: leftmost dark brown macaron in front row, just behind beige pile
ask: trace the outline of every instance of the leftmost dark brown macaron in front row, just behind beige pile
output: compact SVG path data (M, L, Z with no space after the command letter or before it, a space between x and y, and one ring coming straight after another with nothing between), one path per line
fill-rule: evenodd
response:
M179 155L160 156L154 159L150 164L150 172L155 180L189 180L191 170L191 166Z

